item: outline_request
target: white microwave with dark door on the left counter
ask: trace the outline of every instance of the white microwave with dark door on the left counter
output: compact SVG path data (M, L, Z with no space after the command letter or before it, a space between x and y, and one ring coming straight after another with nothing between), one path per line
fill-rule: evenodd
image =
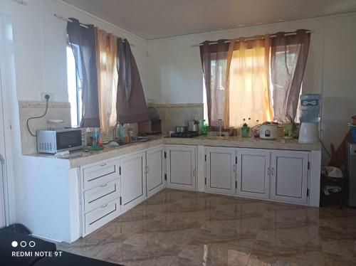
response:
M37 151L46 154L82 149L83 139L81 128L40 129L36 131Z

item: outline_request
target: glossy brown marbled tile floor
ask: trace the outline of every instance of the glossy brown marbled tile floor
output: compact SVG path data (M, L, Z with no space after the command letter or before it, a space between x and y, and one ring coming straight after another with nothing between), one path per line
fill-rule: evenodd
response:
M356 209L164 189L58 249L123 265L356 265Z

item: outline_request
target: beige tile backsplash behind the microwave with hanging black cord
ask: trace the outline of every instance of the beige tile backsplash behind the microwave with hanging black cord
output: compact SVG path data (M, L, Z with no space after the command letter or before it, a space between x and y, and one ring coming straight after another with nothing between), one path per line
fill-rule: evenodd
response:
M26 122L29 117L43 115L46 110L46 102L19 101L20 131L22 154L28 155L37 152L36 137L28 132ZM32 133L38 129L47 129L53 124L48 124L48 119L61 119L64 122L55 125L55 128L70 127L70 103L48 102L48 112L45 117L31 119L29 127Z

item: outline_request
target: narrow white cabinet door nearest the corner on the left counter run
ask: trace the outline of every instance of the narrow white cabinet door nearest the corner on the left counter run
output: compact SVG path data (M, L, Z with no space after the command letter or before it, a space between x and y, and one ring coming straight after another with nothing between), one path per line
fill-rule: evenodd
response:
M147 196L152 196L164 187L164 149L157 147L146 151Z

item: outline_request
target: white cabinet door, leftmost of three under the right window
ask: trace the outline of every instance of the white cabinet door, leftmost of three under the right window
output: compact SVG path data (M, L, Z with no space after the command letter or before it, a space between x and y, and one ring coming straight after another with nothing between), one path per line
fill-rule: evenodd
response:
M205 149L206 191L214 193L235 193L235 149Z

